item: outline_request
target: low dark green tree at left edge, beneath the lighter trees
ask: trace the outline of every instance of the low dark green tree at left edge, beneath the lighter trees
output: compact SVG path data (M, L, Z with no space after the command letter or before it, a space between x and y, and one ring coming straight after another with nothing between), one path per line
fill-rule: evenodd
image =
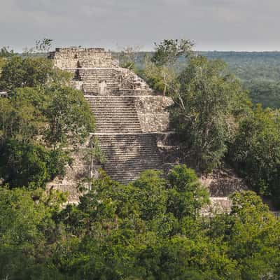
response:
M0 147L0 174L11 188L44 188L55 176L64 175L67 163L71 164L68 153L38 144L8 140Z

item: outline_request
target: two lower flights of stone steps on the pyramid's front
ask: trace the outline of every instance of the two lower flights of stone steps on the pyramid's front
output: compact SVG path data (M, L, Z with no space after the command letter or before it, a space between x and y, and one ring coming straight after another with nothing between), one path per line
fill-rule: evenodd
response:
M146 169L161 169L157 134L142 132L135 97L85 96L96 119L94 137L104 152L104 170L112 179L129 183Z

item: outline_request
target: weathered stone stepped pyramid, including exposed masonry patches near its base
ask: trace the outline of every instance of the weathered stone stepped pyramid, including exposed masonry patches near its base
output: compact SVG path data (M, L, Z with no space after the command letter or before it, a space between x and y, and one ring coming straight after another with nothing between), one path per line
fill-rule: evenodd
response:
M66 177L50 183L52 187L67 190L69 200L76 202L77 182L90 173L94 175L98 167L103 167L112 179L128 183L146 169L167 170L179 162L174 156L176 147L170 141L170 97L151 90L135 73L121 68L111 52L101 48L57 48L50 52L50 59L55 66L71 72L73 87L83 91L96 118L92 137L98 139L106 157L103 165L94 162L92 171L83 156L77 154ZM210 188L214 204L222 209L229 207L226 196L242 186L239 179L227 180L225 176L224 181L203 181Z

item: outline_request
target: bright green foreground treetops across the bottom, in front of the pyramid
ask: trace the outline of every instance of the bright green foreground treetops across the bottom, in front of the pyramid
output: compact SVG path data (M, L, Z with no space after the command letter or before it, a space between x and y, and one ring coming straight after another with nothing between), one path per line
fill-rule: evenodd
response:
M279 279L280 225L260 198L237 193L229 214L203 217L203 190L186 166L127 186L101 172L63 209L59 193L2 188L1 278Z

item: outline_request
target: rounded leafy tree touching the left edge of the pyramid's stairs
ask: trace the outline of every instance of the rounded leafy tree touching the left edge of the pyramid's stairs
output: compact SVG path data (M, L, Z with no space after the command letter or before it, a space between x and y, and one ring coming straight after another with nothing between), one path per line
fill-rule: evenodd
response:
M90 132L94 132L94 116L83 93L71 87L49 87L50 97L43 114L48 122L45 140L52 147L83 144Z

